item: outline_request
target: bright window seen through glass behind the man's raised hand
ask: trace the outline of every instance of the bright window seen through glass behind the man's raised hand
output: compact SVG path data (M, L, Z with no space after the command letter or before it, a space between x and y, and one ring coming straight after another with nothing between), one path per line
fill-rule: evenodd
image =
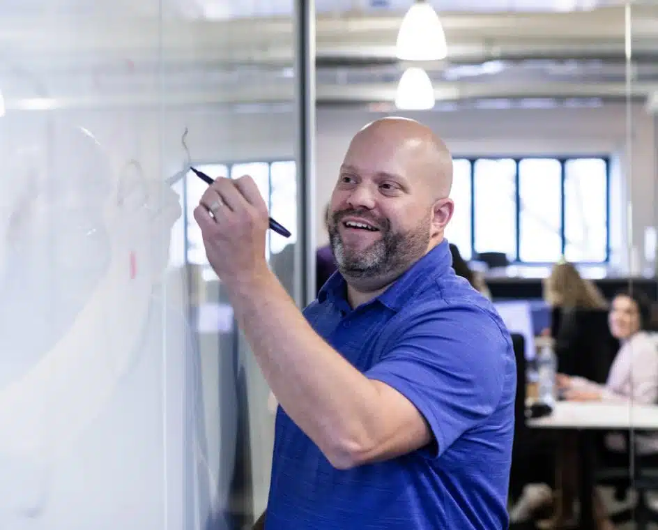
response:
M238 179L245 174L251 175L268 205L272 218L290 230L291 236L284 238L268 230L266 256L278 254L286 245L297 241L297 171L292 160L281 162L245 162L231 165L207 164L195 166L200 171L216 179L218 176ZM188 173L174 183L174 190L181 197L183 218L178 220L172 230L170 262L181 265L188 263L206 265L206 250L201 239L201 230L194 220L194 208L199 204L201 195L208 185L197 176Z

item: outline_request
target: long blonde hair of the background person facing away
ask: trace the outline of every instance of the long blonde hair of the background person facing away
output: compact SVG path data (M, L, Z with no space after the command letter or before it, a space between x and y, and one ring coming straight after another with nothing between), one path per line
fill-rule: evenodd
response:
M608 303L598 287L583 278L578 269L569 262L553 266L551 274L544 280L544 300L551 307L606 309Z

